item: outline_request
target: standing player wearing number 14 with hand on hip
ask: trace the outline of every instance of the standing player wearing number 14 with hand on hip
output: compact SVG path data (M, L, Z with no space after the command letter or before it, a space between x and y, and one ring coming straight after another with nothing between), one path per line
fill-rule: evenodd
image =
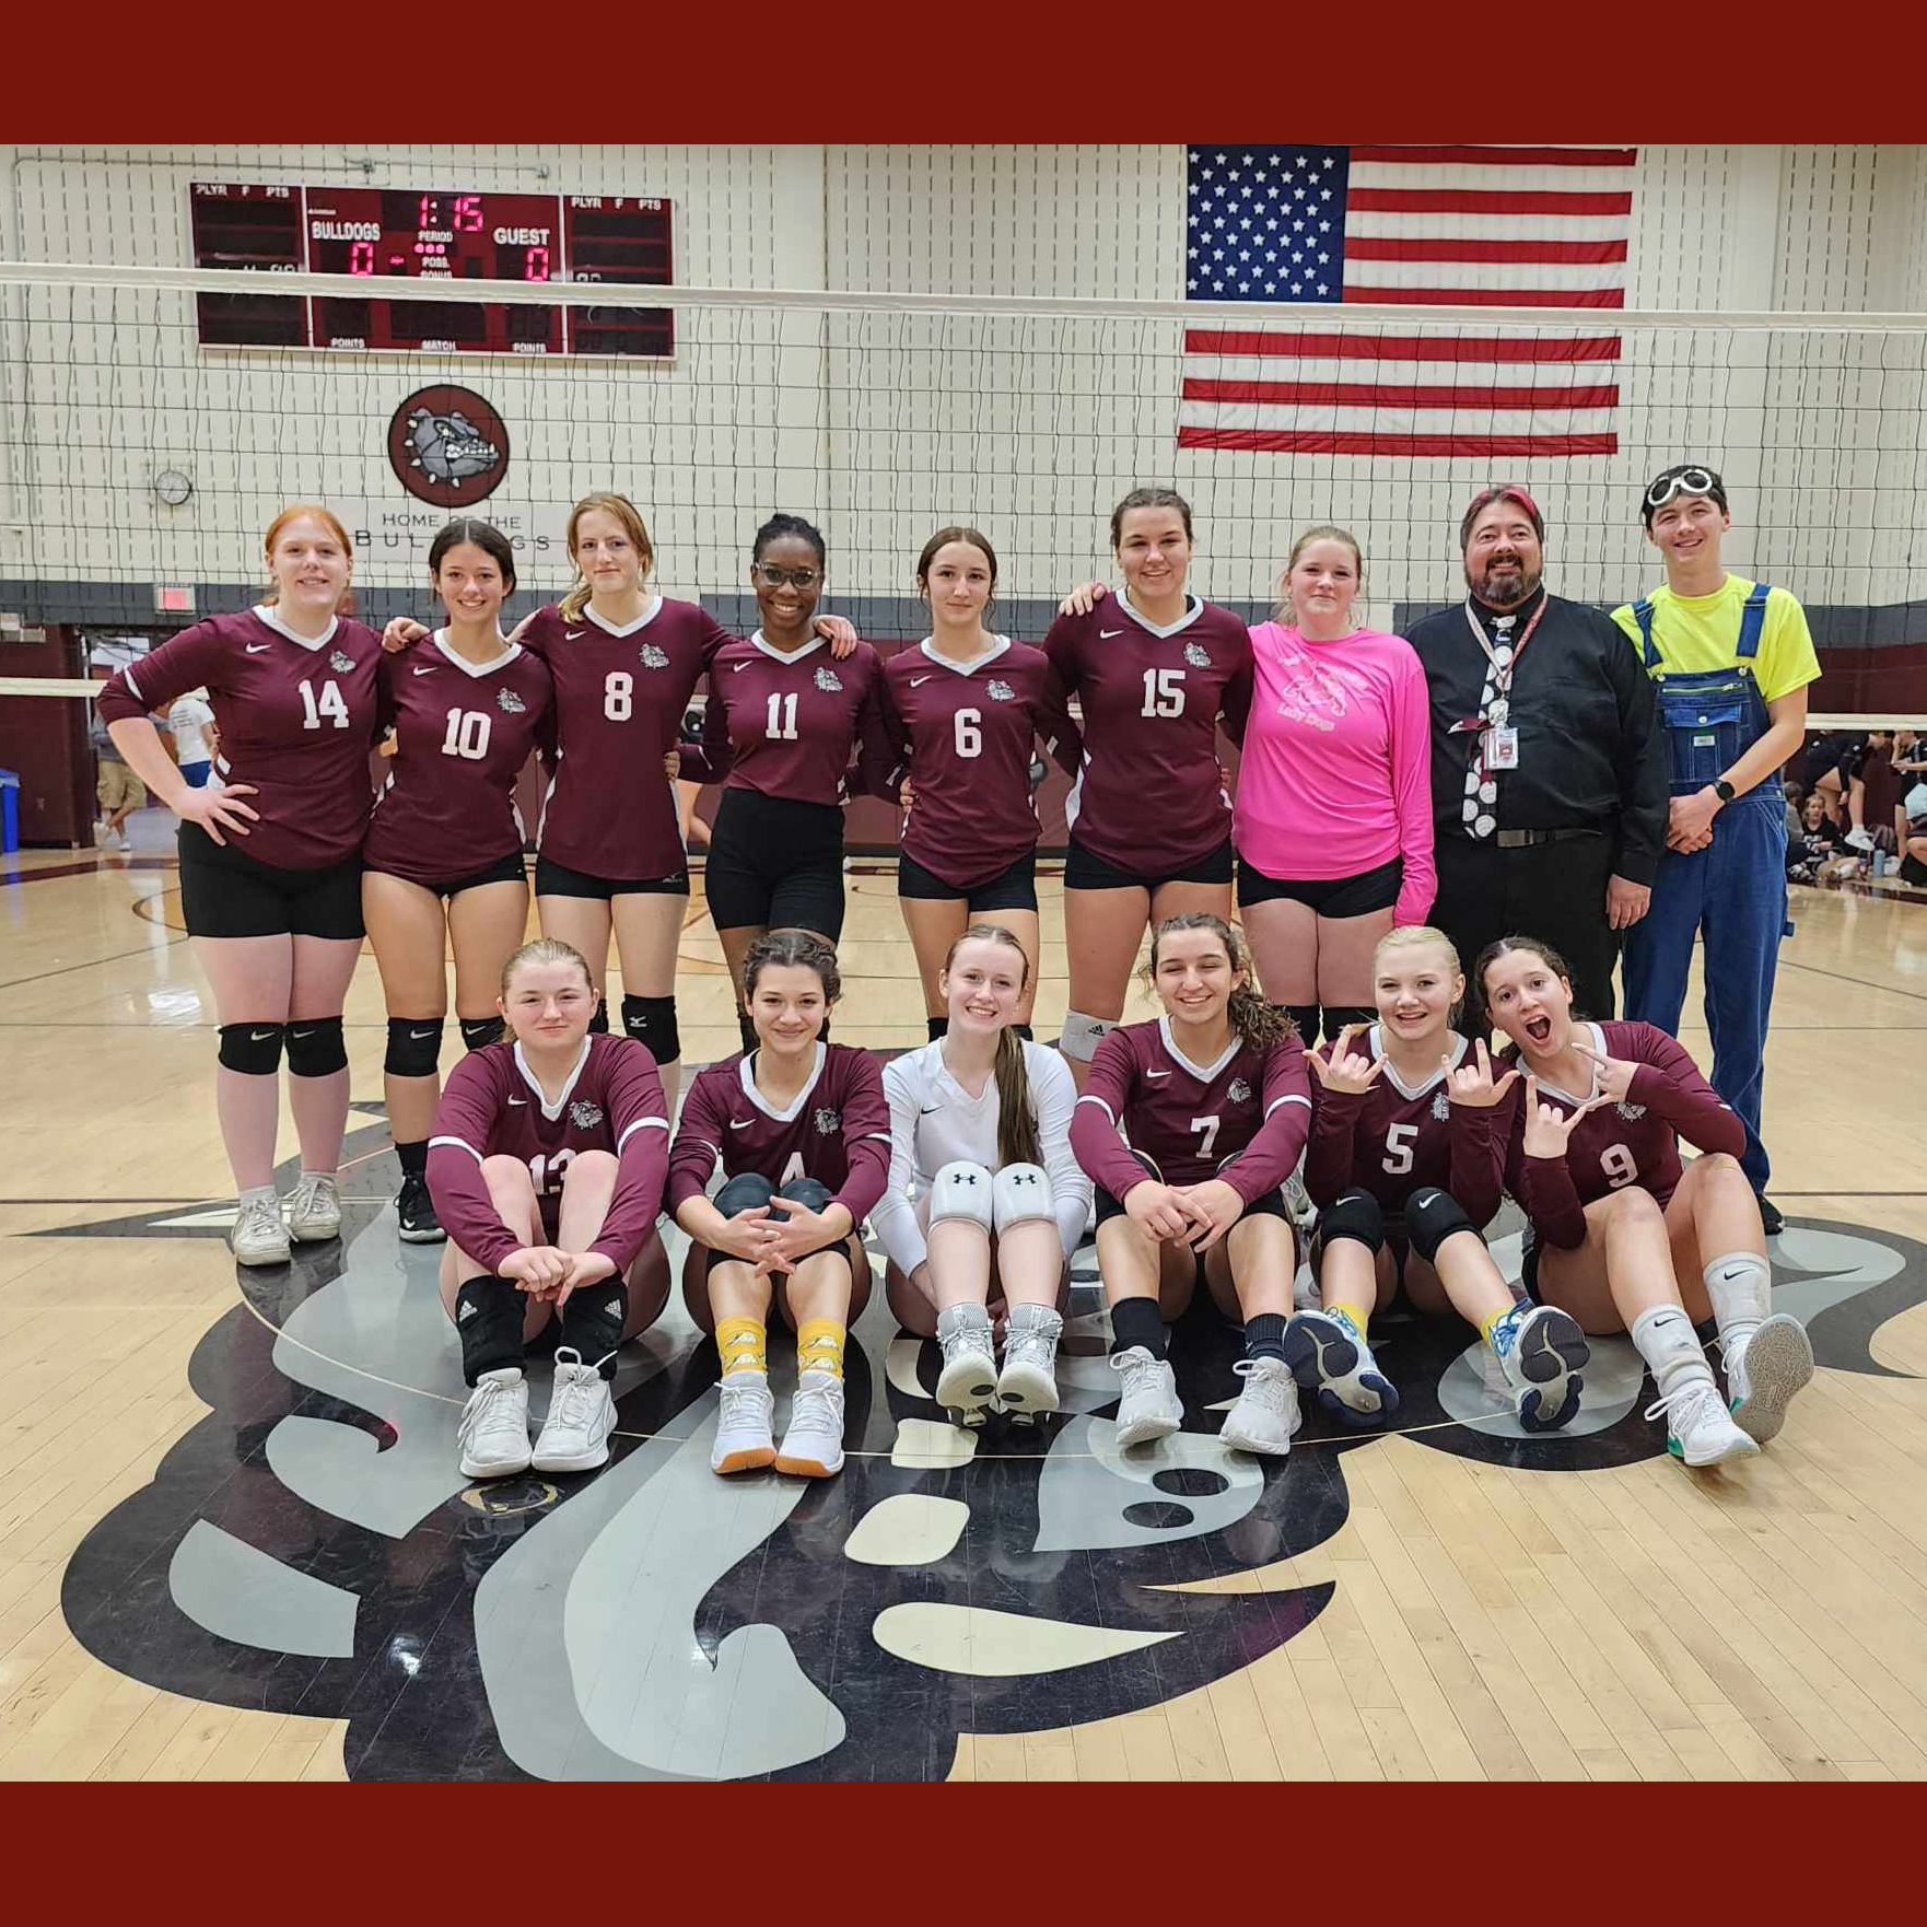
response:
M181 911L214 989L214 1104L241 1193L229 1231L241 1264L283 1264L289 1235L341 1229L341 1006L362 940L382 657L374 630L335 615L353 549L328 509L283 509L264 547L274 590L262 603L181 630L112 676L98 709L127 765L181 819ZM187 782L148 715L195 688L220 728L218 788ZM301 1137L285 1218L274 1191L283 1043Z

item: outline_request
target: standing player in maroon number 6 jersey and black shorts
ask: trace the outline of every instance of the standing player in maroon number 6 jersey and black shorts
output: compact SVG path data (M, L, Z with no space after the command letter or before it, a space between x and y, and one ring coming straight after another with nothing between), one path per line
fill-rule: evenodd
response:
M1017 1006L1031 1035L1037 996L1037 805L1031 742L1075 777L1083 738L1046 698L1050 661L985 617L996 595L996 551L975 528L940 528L917 557L931 634L884 663L884 725L898 750L904 831L896 900L923 979L931 1039L950 1017L937 987L944 958L971 923L1000 921L1029 960Z

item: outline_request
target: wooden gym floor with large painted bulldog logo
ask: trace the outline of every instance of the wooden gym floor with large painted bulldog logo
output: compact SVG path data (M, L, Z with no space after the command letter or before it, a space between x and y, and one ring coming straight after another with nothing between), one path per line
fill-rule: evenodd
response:
M1738 1472L1665 1457L1623 1343L1572 1436L1522 1441L1426 1324L1380 1328L1397 1434L1308 1418L1283 1465L1233 1457L1208 1316L1174 1351L1187 1430L1127 1463L1087 1247L1054 1426L944 1426L879 1293L842 1478L725 1484L673 1307L605 1472L478 1490L378 1102L341 1243L237 1289L214 1016L162 825L139 844L0 871L0 1775L1927 1773L1921 904L1794 892L1767 1141L1821 1370ZM836 1035L919 1043L890 865L850 888ZM690 1066L734 1046L700 894L680 996ZM378 1100L372 960L347 1025ZM283 1189L291 1154L283 1122ZM777 1345L779 1418L790 1370Z

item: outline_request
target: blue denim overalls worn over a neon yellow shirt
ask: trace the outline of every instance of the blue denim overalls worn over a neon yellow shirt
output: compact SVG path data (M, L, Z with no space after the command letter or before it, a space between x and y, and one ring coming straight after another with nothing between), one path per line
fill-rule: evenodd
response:
M1767 732L1767 700L1752 661L1767 617L1769 586L1755 582L1740 613L1732 669L1669 673L1653 647L1651 599L1634 603L1646 671L1657 684L1673 765L1673 794L1717 782ZM1621 950L1626 1016L1678 1033L1692 946L1705 937L1705 1023L1713 1033L1713 1089L1746 1125L1740 1164L1755 1191L1767 1185L1759 1143L1759 1087L1767 1010L1781 937L1786 933L1786 804L1779 771L1713 817L1703 850L1667 850L1653 877L1648 913Z

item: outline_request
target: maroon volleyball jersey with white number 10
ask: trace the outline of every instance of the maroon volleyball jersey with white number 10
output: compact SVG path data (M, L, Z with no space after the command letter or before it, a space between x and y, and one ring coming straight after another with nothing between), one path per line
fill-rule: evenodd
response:
M437 628L422 647L382 657L380 705L395 753L368 823L368 867L434 886L520 856L515 779L553 742L541 657L511 642L468 663Z

